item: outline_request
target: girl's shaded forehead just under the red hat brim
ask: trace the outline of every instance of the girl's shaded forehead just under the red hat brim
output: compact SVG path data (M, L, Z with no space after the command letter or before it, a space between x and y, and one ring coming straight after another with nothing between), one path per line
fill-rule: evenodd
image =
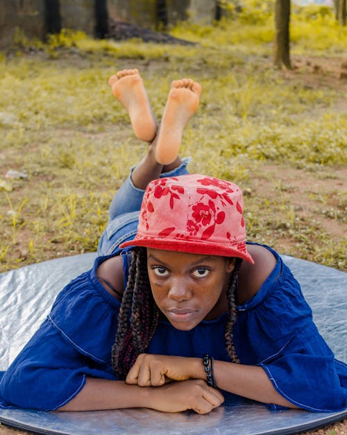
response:
M164 264L184 264L185 266L200 263L225 262L226 258L219 255L181 253L174 250L147 248L147 259L157 260Z

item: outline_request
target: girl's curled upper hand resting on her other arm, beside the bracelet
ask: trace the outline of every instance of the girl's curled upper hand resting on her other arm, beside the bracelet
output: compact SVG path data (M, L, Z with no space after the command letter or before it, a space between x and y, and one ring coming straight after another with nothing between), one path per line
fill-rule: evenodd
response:
M202 372L199 372L199 369ZM142 353L130 368L127 384L139 386L161 386L170 380L185 381L205 376L200 358L172 357Z

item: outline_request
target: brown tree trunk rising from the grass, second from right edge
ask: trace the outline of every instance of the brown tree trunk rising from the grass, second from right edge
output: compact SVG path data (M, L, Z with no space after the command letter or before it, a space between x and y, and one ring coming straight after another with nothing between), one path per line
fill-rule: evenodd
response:
M273 64L291 69L289 56L290 0L276 0Z

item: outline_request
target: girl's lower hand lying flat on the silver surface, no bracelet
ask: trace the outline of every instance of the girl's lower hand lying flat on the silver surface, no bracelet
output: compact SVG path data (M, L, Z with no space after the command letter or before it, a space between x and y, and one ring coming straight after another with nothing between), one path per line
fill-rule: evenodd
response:
M193 409L205 414L219 407L223 395L202 379L189 379L153 387L149 394L149 408L163 412L180 412Z

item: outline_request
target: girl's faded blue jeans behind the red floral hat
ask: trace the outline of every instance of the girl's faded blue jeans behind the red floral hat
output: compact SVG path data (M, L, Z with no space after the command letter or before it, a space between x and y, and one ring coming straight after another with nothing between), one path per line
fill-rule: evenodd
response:
M160 178L177 177L187 174L187 164L191 160L190 157L183 158L182 164L178 168L161 173ZM119 253L121 252L119 245L135 237L144 190L137 189L133 185L131 173L134 168L130 169L128 178L112 199L109 210L110 218L99 240L98 255Z

